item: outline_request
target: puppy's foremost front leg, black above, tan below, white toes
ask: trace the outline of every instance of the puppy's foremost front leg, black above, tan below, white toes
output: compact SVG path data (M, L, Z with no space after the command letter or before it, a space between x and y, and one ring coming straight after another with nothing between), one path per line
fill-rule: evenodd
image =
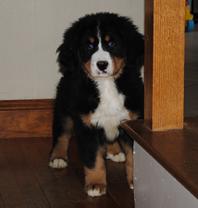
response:
M80 159L84 165L85 190L89 196L95 197L106 193L106 140L103 130L95 128L88 121L84 116L76 122L75 132Z

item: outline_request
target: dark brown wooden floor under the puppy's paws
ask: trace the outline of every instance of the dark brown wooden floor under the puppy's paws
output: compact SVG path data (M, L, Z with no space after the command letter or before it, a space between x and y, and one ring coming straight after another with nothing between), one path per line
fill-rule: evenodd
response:
M65 170L48 167L50 139L0 140L0 208L132 208L123 164L107 162L106 196L88 197L83 190L83 172L71 145Z

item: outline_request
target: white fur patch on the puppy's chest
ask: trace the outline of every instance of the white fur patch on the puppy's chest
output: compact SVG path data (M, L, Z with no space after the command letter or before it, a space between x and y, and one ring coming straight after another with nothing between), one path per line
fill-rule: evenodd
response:
M129 119L129 112L124 107L125 96L120 94L113 79L98 79L100 103L91 116L94 126L102 127L109 141L118 136L120 122Z

